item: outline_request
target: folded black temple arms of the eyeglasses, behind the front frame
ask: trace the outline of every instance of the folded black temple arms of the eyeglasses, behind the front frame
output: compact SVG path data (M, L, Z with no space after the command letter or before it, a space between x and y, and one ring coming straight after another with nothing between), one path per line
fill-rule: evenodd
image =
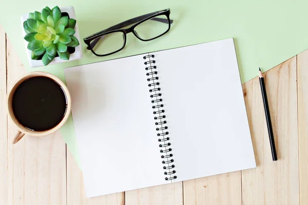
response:
M142 16L138 16L136 18L131 18L129 20L126 20L125 22L122 22L120 24L117 24L117 25L114 25L112 27L109 27L108 29L105 29L103 31L101 31L100 33L105 33L105 32L108 32L108 31L112 31L112 30L116 30L116 29L121 29L123 27L126 27L126 26L129 26L129 25L132 25L132 24L136 24L138 22L140 22L141 20L143 20L144 18L147 18L151 15L154 15L158 12L153 12L153 13L149 13L149 14L145 14L145 15L142 15ZM151 18L150 20L155 20L157 22L161 22L161 23L164 23L164 24L169 24L169 20L168 19L165 19L165 18L157 18L157 17L154 17L154 18ZM170 19L170 24L173 23L173 20ZM91 50L91 48L94 48L95 45L97 45L97 43L99 42L99 40L101 38L103 38L104 36L100 37L100 38L95 38L91 43L90 43L90 46L87 47L88 50Z

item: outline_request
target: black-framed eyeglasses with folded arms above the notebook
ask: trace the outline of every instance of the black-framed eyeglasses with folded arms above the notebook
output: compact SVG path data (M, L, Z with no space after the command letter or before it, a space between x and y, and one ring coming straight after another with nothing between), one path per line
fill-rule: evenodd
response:
M84 42L88 45L87 49L91 50L94 55L111 55L125 47L127 33L132 32L137 38L145 42L167 33L170 30L170 24L173 22L169 15L170 9L165 9L131 18L84 38ZM130 25L132 26L123 29Z

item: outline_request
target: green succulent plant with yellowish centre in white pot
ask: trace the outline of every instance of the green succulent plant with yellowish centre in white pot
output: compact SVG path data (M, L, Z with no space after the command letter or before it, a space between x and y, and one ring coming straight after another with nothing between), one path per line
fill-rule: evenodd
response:
M79 46L79 41L74 36L75 25L76 20L62 16L57 6L53 9L46 7L41 13L30 13L24 22L24 30L27 33L24 38L29 42L31 58L42 58L44 66L48 65L56 54L63 60L69 60L67 48Z

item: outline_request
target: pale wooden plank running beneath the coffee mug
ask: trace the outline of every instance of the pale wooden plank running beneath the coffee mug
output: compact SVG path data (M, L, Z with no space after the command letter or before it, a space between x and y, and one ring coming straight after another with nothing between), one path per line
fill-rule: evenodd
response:
M7 40L8 91L26 70ZM12 145L16 132L8 120L8 204L66 204L66 146L59 132L25 136Z

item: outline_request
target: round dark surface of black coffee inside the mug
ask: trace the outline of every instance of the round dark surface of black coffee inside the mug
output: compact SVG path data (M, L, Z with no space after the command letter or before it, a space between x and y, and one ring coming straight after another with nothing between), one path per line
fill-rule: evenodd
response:
M18 122L34 131L49 130L65 115L67 100L61 86L48 77L32 77L17 87L12 108Z

